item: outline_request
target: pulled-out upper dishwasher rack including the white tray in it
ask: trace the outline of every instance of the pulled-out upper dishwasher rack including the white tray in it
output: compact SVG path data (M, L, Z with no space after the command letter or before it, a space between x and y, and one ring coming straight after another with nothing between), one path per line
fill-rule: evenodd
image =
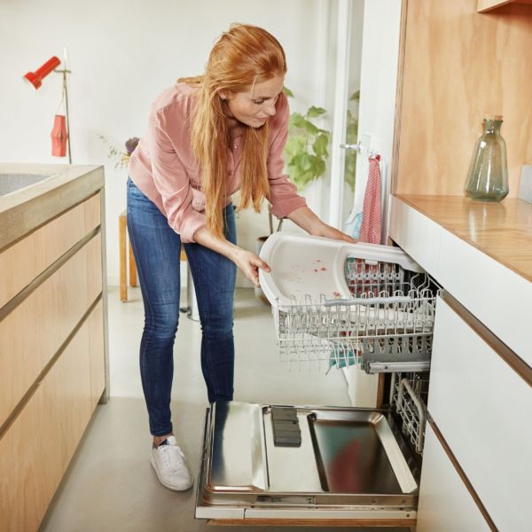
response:
M421 372L430 364L437 287L392 246L275 233L260 272L281 360L366 372Z

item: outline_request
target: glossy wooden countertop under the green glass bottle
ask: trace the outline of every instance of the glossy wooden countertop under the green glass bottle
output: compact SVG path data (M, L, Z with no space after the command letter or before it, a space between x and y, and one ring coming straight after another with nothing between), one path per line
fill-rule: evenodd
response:
M514 198L490 203L461 196L396 197L532 281L532 204Z

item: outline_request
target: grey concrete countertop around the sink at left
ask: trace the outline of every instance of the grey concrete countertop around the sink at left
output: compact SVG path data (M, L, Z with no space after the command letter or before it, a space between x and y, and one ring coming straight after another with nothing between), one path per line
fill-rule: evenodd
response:
M50 177L0 196L0 251L104 187L104 167L0 162L2 174Z

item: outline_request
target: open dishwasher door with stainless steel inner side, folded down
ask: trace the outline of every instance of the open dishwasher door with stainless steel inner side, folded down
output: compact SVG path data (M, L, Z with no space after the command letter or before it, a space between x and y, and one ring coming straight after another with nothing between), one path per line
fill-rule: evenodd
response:
M214 403L196 518L413 526L418 465L387 411Z

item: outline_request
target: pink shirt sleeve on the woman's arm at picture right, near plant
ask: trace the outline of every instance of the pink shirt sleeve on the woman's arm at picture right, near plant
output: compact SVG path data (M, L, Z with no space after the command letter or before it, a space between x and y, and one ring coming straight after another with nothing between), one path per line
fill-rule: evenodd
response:
M273 137L268 155L268 180L270 183L270 192L268 200L271 203L271 212L278 218L286 218L296 208L306 207L307 201L297 193L297 187L290 182L288 176L284 173L285 159L283 150L285 149L286 139L288 137L288 121L290 113L288 110L288 101L284 94L278 99L276 116L274 119L278 132Z

